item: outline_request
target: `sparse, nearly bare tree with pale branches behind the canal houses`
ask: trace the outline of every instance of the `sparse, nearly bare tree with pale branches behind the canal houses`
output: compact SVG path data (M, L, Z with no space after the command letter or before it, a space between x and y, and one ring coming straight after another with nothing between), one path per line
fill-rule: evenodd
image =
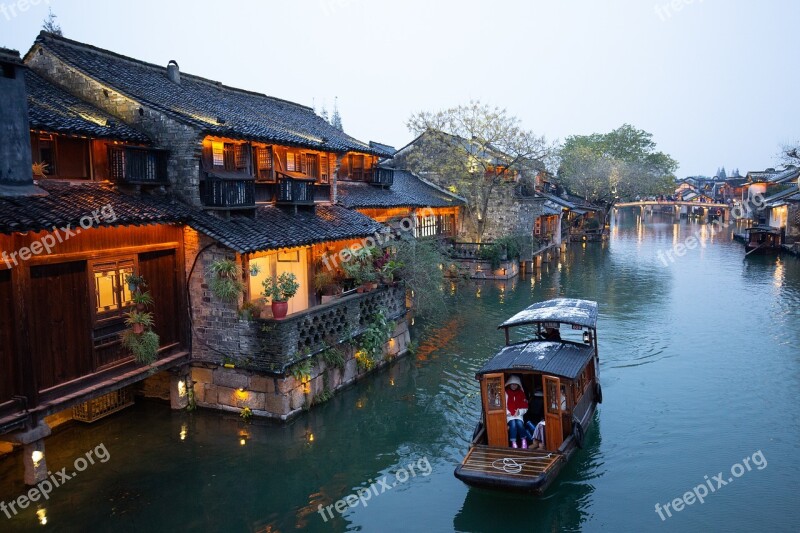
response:
M418 137L400 164L462 196L466 229L477 241L491 223L487 214L500 187L542 170L553 152L517 117L479 101L416 113L407 126Z

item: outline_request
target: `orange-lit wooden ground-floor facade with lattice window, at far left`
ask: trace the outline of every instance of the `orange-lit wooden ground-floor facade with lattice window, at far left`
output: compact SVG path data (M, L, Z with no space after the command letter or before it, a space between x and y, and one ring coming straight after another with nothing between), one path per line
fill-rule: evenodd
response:
M0 235L0 249L30 247L46 235ZM120 343L125 302L98 309L98 276L124 283L114 265L146 279L163 352L188 346L182 241L172 225L92 228L50 254L0 262L0 418L19 410L14 396L24 396L28 409L57 403L133 365Z

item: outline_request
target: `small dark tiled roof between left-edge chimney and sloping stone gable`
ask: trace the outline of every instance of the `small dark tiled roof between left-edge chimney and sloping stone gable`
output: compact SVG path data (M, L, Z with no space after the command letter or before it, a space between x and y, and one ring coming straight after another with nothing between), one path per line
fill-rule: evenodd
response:
M93 107L26 69L31 129L150 143L146 135Z

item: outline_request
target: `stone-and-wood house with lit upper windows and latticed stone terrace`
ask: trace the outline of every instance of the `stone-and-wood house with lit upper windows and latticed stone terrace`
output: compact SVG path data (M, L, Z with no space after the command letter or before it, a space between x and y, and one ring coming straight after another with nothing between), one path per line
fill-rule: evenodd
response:
M362 374L357 350L344 368L315 356L352 341L378 310L397 320L391 355L405 352L401 288L343 296L321 305L314 287L323 259L375 239L384 226L337 203L340 180L390 185L391 156L358 141L313 109L42 33L25 56L40 77L62 86L153 139L164 150L166 194L190 206L182 272L192 339L190 392L198 405L285 418ZM189 209L189 207L187 207ZM241 290L212 290L223 261ZM289 315L275 320L262 282L296 276ZM346 342L347 341L347 342ZM290 368L311 365L308 379ZM306 368L302 366L302 368ZM298 375L298 372L294 372Z

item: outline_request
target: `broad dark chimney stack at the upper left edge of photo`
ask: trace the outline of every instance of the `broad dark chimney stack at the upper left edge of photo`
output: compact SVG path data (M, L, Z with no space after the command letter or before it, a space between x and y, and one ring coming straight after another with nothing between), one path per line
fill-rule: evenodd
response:
M33 184L25 66L16 50L0 48L0 196L46 194Z

